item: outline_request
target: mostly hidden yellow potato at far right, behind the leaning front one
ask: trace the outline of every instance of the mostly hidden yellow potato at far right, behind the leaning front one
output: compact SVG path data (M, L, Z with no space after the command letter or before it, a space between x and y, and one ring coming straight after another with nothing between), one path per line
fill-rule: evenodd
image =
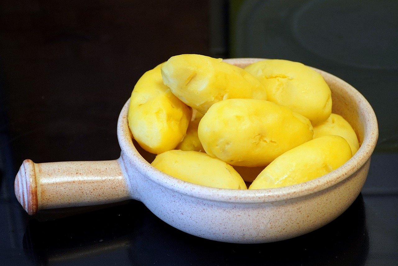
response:
M338 114L331 114L324 122L314 126L314 139L324 135L338 135L343 137L351 147L354 155L359 149L357 134L351 125Z

